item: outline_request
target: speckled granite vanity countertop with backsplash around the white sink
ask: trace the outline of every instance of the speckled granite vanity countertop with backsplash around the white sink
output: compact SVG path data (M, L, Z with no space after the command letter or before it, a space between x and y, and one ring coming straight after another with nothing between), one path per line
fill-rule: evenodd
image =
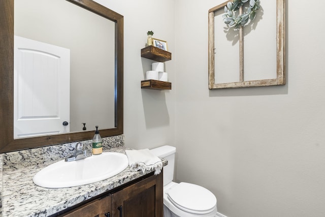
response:
M123 138L114 139L123 140ZM116 176L78 187L47 189L38 187L32 182L32 177L38 171L70 156L70 151L73 150L70 147L73 146L75 144L71 143L64 144L61 148L50 146L41 150L31 149L23 153L20 151L3 154L2 216L49 216L145 175L141 172L132 172L127 167ZM125 153L126 149L123 142L104 146L105 151ZM164 165L166 164L164 161Z

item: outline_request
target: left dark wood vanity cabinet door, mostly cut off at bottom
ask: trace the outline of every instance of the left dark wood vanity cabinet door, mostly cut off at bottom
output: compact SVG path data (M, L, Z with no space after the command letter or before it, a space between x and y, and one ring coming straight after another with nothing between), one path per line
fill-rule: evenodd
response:
M91 201L81 207L71 210L64 217L112 217L112 196Z

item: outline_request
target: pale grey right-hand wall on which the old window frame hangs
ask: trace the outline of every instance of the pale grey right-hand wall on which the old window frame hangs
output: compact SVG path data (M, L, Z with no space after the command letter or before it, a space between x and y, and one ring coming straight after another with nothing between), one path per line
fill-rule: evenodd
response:
M210 189L228 217L325 216L325 2L287 0L285 86L219 90L208 10L224 1L175 2L176 179Z

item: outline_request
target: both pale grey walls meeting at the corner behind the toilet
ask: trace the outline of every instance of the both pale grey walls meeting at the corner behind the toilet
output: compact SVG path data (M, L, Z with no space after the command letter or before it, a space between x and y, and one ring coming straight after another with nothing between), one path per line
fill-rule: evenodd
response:
M126 146L175 144L176 179L210 189L228 217L325 215L323 1L287 0L285 86L220 90L208 10L223 1L97 1L124 15ZM172 90L140 89L148 30L169 43Z

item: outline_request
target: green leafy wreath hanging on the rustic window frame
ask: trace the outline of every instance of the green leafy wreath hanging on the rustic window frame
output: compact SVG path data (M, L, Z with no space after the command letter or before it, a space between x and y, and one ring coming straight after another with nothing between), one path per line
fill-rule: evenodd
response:
M249 2L249 7L247 11L235 16L236 9L242 7L245 3ZM259 0L234 0L234 2L229 2L224 6L224 14L222 15L223 21L229 27L234 27L235 29L239 26L244 26L247 24L248 20L251 21L255 19L256 11L261 8L259 5Z

